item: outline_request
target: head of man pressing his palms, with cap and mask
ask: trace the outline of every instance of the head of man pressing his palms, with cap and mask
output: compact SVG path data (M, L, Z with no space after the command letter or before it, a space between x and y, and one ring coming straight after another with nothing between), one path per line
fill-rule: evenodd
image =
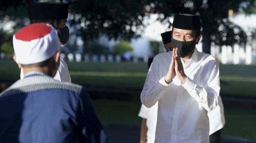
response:
M172 45L178 48L178 54L184 58L192 55L201 38L200 16L175 14L172 23Z

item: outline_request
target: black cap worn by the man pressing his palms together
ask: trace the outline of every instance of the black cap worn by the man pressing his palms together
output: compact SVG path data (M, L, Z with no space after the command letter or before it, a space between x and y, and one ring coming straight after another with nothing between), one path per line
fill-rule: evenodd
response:
M185 30L200 30L200 16L192 14L175 14L172 27Z

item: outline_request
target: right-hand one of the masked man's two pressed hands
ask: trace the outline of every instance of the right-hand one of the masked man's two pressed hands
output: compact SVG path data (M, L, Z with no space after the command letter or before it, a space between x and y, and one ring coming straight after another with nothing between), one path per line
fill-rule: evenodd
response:
M178 55L178 49L177 48L173 48L173 52L174 52L174 65L175 65L175 73L178 77L178 79L182 82L182 84L184 84L187 80L187 76L184 72L183 69L183 65L182 65L182 61L180 59L180 56Z

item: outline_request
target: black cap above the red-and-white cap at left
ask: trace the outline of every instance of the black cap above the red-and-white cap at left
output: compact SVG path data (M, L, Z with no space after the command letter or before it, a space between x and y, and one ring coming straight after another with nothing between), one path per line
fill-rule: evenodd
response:
M69 4L59 2L39 2L27 5L29 20L67 19Z

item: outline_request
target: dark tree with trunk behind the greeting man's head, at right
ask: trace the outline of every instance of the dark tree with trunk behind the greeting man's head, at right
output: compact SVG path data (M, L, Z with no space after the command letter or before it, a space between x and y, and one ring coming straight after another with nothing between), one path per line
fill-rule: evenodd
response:
M160 21L166 21L174 13L200 14L202 19L203 52L210 53L211 42L231 45L245 42L244 31L228 20L229 10L252 12L254 0L149 0L150 13L159 13ZM170 23L171 26L171 23ZM222 29L219 29L219 27ZM234 28L238 32L234 32ZM238 38L237 38L238 36ZM236 38L235 38L236 37Z

